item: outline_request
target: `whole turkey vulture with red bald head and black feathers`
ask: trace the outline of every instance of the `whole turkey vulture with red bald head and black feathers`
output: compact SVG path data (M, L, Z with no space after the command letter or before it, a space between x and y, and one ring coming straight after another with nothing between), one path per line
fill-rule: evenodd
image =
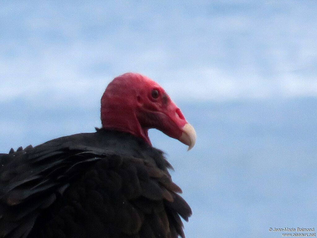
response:
M159 84L137 73L113 79L94 133L0 154L0 237L185 237L191 208L172 166L153 148L156 128L191 149L193 127Z

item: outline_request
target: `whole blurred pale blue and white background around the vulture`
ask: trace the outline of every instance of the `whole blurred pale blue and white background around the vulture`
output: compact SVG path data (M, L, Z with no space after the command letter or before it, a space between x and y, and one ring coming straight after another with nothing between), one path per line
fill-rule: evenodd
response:
M0 152L100 126L113 77L143 73L197 130L151 130L193 208L187 237L316 223L315 1L2 1ZM317 229L317 227L316 227Z

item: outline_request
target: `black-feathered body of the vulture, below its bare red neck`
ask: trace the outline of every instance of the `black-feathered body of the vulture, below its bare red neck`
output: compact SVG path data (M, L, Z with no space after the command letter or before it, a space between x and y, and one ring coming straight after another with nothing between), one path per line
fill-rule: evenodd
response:
M0 154L0 237L184 237L163 153L98 129Z

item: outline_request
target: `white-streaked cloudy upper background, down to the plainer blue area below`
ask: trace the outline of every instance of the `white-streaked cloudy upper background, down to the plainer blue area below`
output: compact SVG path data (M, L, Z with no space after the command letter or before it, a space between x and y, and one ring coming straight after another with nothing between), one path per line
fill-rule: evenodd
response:
M147 74L175 100L317 96L316 20L305 3L18 6L0 12L2 102L100 96L126 71Z

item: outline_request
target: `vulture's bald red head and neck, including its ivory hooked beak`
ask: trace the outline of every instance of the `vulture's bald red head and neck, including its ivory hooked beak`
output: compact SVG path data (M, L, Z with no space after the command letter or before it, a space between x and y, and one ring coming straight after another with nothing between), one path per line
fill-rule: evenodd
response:
M103 128L129 132L149 144L148 129L151 128L190 148L196 138L195 130L165 90L138 73L125 73L109 83L101 97L101 123Z

